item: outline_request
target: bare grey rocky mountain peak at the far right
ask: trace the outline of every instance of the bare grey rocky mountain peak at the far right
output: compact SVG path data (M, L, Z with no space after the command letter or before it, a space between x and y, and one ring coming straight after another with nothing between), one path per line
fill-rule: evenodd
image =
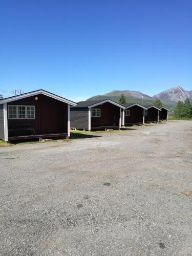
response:
M163 103L184 101L186 98L192 100L192 91L185 91L182 87L173 87L153 96L159 98Z

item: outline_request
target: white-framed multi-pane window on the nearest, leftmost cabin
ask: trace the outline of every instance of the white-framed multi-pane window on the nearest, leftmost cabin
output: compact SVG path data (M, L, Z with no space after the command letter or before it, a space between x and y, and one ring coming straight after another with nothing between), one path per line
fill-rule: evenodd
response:
M35 106L8 106L9 119L35 119Z

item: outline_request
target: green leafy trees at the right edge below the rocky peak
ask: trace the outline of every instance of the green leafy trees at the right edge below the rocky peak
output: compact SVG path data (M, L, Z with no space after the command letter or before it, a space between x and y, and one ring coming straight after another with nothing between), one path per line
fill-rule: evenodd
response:
M177 102L177 106L174 111L174 116L179 119L192 118L192 104L189 101L189 99L186 99L184 102L182 101Z

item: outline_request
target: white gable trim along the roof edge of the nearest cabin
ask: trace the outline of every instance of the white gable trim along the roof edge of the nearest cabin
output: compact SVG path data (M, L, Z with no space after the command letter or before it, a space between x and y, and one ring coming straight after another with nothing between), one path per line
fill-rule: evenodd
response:
M2 99L2 100L0 100L0 104L12 102L12 101L19 100L19 99L25 99L25 98L28 98L28 97L31 97L31 96L35 96L35 95L39 95L39 94L46 95L46 96L48 96L50 98L53 98L53 99L65 102L65 103L70 104L72 106L76 106L77 105L77 103L75 103L75 102L73 102L71 100L62 98L60 96L57 96L57 95L55 95L53 93L49 93L49 92L44 91L44 90L37 90L37 91L34 91L34 92L29 92L29 93L24 93L24 94L16 95L16 96L13 96L13 97L10 97L10 98L7 98L7 99Z

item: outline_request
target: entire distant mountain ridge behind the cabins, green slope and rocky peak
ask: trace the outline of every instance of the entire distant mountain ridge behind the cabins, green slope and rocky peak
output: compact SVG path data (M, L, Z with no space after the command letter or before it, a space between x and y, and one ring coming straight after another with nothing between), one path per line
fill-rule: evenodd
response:
M139 91L115 90L103 95L93 96L87 100L110 98L112 100L118 101L121 94L124 94L127 103L137 102L140 104L152 104L155 101L155 99L159 98L164 105L169 106L171 109L175 107L179 100L184 101L186 98L188 98L190 101L192 101L192 90L185 91L181 86L167 89L163 92L154 95L153 97L143 94Z

